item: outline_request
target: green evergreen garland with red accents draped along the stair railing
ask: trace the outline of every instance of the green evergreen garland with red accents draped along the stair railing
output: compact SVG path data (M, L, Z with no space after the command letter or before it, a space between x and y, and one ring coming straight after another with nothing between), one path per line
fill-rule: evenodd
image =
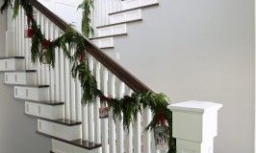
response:
M93 33L90 27L90 8L92 4L92 0L84 0L78 7L83 10L82 32L86 36ZM44 53L46 55L46 62L54 68L55 49L61 48L64 56L73 64L71 75L73 78L78 76L81 82L81 87L84 91L81 99L82 104L91 104L95 101L95 98L100 98L101 102L107 102L109 109L113 110L113 119L123 119L124 129L129 129L131 121L137 119L137 115L141 113L141 105L143 108L148 107L152 111L153 119L145 130L153 130L158 124L165 125L167 122L167 134L169 136L168 153L176 153L176 141L172 138L172 114L167 109L166 95L147 92L143 94L133 93L131 96L124 96L123 98L108 98L104 96L103 92L97 89L97 81L92 76L87 65L87 42L84 36L74 31L72 25L69 25L60 37L52 41L47 40L33 17L33 6L28 0L15 0L14 4L12 4L11 0L5 0L0 11L3 12L8 7L11 7L13 9L13 18L15 18L18 14L19 6L24 9L27 15L27 24L30 25L32 30L31 60L34 64L38 60L40 63L42 62L43 52L41 50L46 50L46 53ZM75 48L73 54L68 52L66 44L68 44L69 48Z

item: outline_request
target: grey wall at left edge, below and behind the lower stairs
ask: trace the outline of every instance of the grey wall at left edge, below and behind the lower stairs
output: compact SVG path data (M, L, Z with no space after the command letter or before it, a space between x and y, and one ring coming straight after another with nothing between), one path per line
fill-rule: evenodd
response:
M0 14L0 56L5 56L6 16ZM0 73L0 152L48 153L51 141L38 136L37 120L24 115L24 101L13 98L13 87L5 86Z

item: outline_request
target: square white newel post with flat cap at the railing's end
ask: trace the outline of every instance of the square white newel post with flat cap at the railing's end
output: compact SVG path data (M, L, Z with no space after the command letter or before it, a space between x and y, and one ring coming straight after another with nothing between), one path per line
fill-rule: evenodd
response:
M218 109L222 104L186 101L168 106L172 111L172 136L177 153L214 153Z

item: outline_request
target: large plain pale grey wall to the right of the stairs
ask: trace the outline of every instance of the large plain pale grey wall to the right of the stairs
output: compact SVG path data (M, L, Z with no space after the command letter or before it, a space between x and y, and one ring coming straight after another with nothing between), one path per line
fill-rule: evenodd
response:
M171 102L222 103L215 153L253 153L254 1L159 2L106 52Z

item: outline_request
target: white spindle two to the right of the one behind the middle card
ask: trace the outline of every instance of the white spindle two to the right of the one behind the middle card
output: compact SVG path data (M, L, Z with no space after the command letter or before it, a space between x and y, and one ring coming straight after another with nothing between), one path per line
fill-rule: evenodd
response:
M116 85L118 89L118 94L116 95L116 98L122 98L124 94L124 83L118 80ZM116 120L116 134L116 152L123 153L123 120Z

